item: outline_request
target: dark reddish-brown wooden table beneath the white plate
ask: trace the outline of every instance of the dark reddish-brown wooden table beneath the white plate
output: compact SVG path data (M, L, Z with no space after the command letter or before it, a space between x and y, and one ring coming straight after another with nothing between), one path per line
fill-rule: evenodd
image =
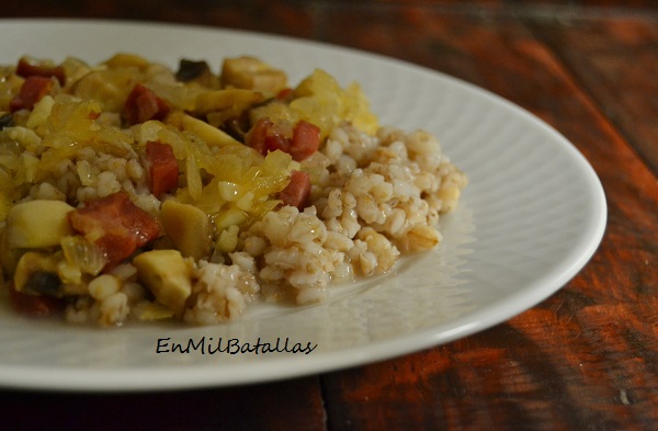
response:
M453 75L527 109L571 140L603 183L609 222L592 260L563 290L466 339L243 387L1 390L2 428L658 429L658 10L642 1L623 2L628 8L611 1L8 2L2 16L238 27L358 47Z

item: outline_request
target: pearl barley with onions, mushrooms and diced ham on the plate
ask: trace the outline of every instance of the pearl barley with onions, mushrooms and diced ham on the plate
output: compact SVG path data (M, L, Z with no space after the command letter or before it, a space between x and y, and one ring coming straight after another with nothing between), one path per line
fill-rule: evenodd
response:
M14 309L121 326L308 304L441 241L467 179L358 84L251 57L0 68L0 259Z

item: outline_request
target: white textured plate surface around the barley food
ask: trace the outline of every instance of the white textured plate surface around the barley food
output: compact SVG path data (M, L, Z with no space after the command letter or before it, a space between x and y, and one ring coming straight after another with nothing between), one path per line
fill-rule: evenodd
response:
M181 57L218 68L254 55L297 82L322 68L362 83L383 124L436 134L469 177L444 241L385 277L337 288L328 303L260 307L208 328L78 328L0 309L0 385L137 390L264 382L364 364L455 340L532 307L590 259L605 227L601 184L561 135L481 89L397 60L318 43L200 27L117 22L0 20L0 64L24 54L102 61L116 52L177 67ZM5 303L3 303L5 304ZM157 353L205 337L206 350ZM158 341L159 339L169 339ZM212 339L212 342L211 342ZM309 354L215 353L222 339ZM166 347L169 344L169 347Z

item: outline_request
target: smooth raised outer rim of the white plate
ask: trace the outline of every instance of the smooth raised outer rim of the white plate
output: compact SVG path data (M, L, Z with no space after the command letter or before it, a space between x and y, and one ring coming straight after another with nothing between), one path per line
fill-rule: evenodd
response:
M589 232L589 241L587 242L587 247L585 247L581 252L577 253L578 256L571 259L570 263L560 270L560 274L558 277L553 277L549 283L535 281L534 284L542 285L543 288L533 288L533 290L524 290L522 292L517 293L513 299L514 306L510 308L509 300L506 303L506 313L503 315L508 315L507 318L500 320L499 317L489 317L489 320L481 319L477 325L473 324L473 319L470 314L466 314L462 316L460 319L452 320L453 326L456 322L457 328L452 331L438 331L436 328L427 328L420 331L415 331L412 336L397 336L393 339L378 340L368 342L368 353L365 353L361 347L352 347L349 349L343 349L339 351L327 351L321 352L321 356L315 356L313 361L305 361L305 358L277 358L273 360L269 360L262 363L259 363L257 366L258 372L253 374L253 370L249 370L250 373L246 373L249 375L249 378L245 376L238 377L239 374L245 373L235 373L236 376L234 378L225 377L222 382L217 381L208 381L207 378L203 378L203 373L207 373L208 370L216 371L217 364L211 363L208 365L196 365L193 368L182 370L181 375L175 376L177 378L170 377L168 381L158 381L158 377L161 376L162 372L166 372L168 367L158 367L158 368L144 368L144 367L128 367L128 368L111 368L111 370L61 370L58 368L58 375L53 376L47 368L34 370L33 367L22 368L20 366L3 366L0 363L0 386L2 387L14 387L14 388L32 388L32 389L46 389L46 390L84 390L84 392L144 392L144 390L157 390L157 389L189 389L196 387L219 387L219 386L230 386L230 385L239 385L239 384L252 384L252 383L264 383L275 379L297 377L314 373L326 373L340 368L360 366L366 363L378 362L383 360L387 360L395 356L401 356L405 354L409 354L412 352L421 351L433 345L443 344L450 341L454 341L456 339L470 336L476 332L484 331L495 325L500 324L501 321L506 321L509 318L523 313L535 306L540 302L544 300L558 290L560 290L565 284L567 284L585 265L590 261L590 259L595 253L599 248L606 227L606 202L605 202L605 193L603 186L592 168L589 161L585 158L585 156L578 150L578 148L570 143L566 137L564 137L554 127L549 126L543 120L533 115L530 111L524 107L480 87L477 87L473 83L464 81L460 78L446 75L442 71L433 70L427 68L424 66L416 65L412 63L408 63L401 59L397 59L394 57L387 57L385 55L371 53L353 47L334 45L321 41L315 39L305 39L285 35L277 34L269 34L261 32L252 32L246 30L234 30L234 29L225 29L217 26L208 26L208 25L195 25L195 24L181 24L181 23L164 23L164 22L150 22L150 21L125 21L125 20L114 20L114 19L0 19L0 29L5 24L55 24L55 25L65 25L65 24L76 24L76 25L91 25L94 23L102 23L107 26L121 26L121 27L132 27L132 26L152 26L158 29L180 29L182 31L185 30L196 30L201 32L212 32L212 33L231 33L238 36L248 36L248 37L268 37L268 38L276 38L279 41L284 41L293 44L305 44L310 45L311 47L316 46L319 48L330 48L332 50L349 53L350 55L363 56L372 59L376 59L377 61L384 61L387 64L394 64L400 67L408 68L409 70L415 70L416 72L426 73L429 76L441 77L444 80L447 80L452 84L458 86L460 88L477 93L480 97L486 97L492 99L495 103L506 105L508 109L511 109L517 114L520 114L524 117L524 121L533 123L534 126L541 127L545 133L549 134L555 143L559 143L560 148L565 151L568 151L570 158L576 160L585 172L585 179L588 180L588 190L590 190L594 194L595 208L593 209L598 213L598 217L593 219L592 225L590 227ZM527 297L532 297L529 299ZM532 306L529 306L529 302L532 302ZM500 316L500 314L496 314L496 316ZM406 340L405 348L400 349L400 339ZM397 348L395 352L392 352L390 345L395 344ZM350 356L350 359L347 359ZM288 364L293 364L293 366L284 366L283 368L280 366L281 363L286 362ZM178 372L181 372L175 366ZM253 367L253 363L246 364L231 364L231 368L251 368ZM277 373L272 373L272 370L276 370ZM34 378L24 378L24 374L32 374ZM148 379L148 385L144 385L145 374L150 376ZM191 375L194 377L190 381ZM93 378L91 378L93 377ZM121 377L121 378L120 378ZM139 377L139 378L135 378ZM207 377L207 376L206 376Z

